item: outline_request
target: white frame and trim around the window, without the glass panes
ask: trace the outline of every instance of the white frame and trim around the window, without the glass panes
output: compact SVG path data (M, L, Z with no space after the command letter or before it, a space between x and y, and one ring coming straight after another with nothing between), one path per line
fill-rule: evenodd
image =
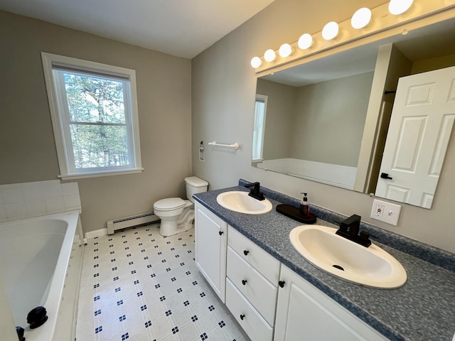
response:
M90 62L77 58L65 57L63 55L54 55L52 53L41 53L43 60L43 70L45 77L46 90L48 92L50 116L55 138L55 147L57 148L58 164L60 166L59 178L63 180L93 178L107 175L123 175L131 173L141 173L144 168L141 166L141 146L139 142L139 114L137 109L137 89L136 89L136 71L124 67L106 65L102 63ZM76 169L74 164L73 146L69 134L69 114L66 99L60 98L56 87L59 80L54 77L53 65L65 65L75 67L77 70L87 70L87 72L100 72L105 75L117 75L129 79L129 92L125 91L125 122L129 129L130 148L130 165L122 167L103 167L90 169ZM61 85L61 84L60 84ZM63 103L64 102L64 103ZM131 114L128 114L130 112Z

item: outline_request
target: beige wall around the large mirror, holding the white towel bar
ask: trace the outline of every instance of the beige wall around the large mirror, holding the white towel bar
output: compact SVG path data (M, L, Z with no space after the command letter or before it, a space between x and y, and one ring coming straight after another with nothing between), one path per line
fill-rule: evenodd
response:
M238 142L236 151L208 148L205 163L197 161L193 150L193 173L208 180L210 188L236 185L239 178L260 181L262 185L293 197L309 193L310 202L341 212L356 213L366 222L436 247L455 251L453 193L455 191L455 138L452 136L433 207L426 210L402 205L397 227L370 219L373 197L322 185L251 166L252 124L256 75L250 66L255 55L267 48L294 42L308 31L321 31L326 22L350 18L362 6L378 6L385 1L346 1L334 11L333 1L276 0L257 16L221 39L192 63L193 144L198 141Z

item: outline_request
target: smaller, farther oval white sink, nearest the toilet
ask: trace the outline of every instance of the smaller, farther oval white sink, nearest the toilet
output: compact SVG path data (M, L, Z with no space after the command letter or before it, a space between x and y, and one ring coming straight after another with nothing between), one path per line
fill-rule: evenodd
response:
M257 200L250 197L248 192L230 191L221 193L216 201L228 210L245 213L247 215L262 215L272 210L272 202L269 200Z

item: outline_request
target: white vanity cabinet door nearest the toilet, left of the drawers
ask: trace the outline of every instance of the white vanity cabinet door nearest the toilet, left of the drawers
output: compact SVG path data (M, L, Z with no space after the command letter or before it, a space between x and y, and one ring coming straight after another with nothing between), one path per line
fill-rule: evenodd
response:
M228 224L198 202L195 220L196 266L225 303Z

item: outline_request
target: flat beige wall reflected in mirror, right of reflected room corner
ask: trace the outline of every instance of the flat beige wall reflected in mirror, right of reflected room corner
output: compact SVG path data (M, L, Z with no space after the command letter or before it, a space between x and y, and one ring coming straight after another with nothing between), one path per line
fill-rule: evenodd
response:
M357 167L373 72L299 88L291 158Z

